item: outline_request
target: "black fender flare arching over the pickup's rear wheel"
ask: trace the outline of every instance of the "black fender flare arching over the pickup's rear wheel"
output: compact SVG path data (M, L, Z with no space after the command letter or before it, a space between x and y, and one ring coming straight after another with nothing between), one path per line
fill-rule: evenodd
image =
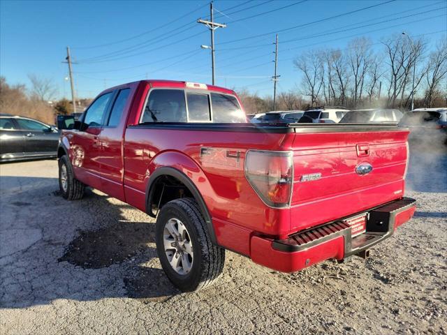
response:
M191 179L189 179L186 174L184 174L182 171L179 171L175 168L171 168L169 166L163 166L160 168L157 168L149 177L149 180L147 181L146 186L146 213L149 216L155 217L155 215L152 213L152 208L150 208L152 204L152 196L154 193L154 188L152 187L154 185L154 182L159 179L159 177L163 176L170 176L178 179L179 181L188 188L188 190L193 195L194 199L197 201L198 206L200 208L200 211L202 212L203 218L205 219L205 223L207 225L208 233L210 234L210 238L214 244L217 244L216 235L214 234L214 228L212 225L212 219L210 215L210 211L207 208L207 205L205 203L205 200L203 200L202 195L198 191L197 186L193 183Z

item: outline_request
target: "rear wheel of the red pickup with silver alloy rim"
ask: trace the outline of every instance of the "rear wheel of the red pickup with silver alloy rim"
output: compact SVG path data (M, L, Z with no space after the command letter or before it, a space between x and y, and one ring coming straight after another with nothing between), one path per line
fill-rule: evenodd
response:
M180 290L206 288L222 273L225 249L212 243L195 200L165 204L156 219L155 239L161 267Z

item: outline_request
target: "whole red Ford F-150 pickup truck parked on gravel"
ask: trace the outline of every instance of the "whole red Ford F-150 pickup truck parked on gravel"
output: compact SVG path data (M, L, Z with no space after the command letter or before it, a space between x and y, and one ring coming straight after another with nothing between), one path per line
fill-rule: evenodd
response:
M143 80L103 91L58 150L64 198L97 188L156 218L184 291L212 283L225 249L278 271L367 257L409 221L406 128L251 124L234 91Z

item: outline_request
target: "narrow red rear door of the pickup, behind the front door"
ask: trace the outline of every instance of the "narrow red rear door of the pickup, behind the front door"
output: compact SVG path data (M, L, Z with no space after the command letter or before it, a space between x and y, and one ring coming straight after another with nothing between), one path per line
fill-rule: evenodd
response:
M100 135L100 155L98 161L101 165L101 190L119 200L124 198L123 174L124 161L122 155L122 142L124 128L126 128L126 111L131 106L131 88L123 87L114 96L110 112Z

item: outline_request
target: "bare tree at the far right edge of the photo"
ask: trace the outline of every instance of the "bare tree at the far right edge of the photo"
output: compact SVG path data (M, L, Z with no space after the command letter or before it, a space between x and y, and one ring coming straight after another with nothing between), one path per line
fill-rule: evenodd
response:
M425 89L424 103L427 107L432 107L434 95L439 91L441 81L447 75L447 40L442 39L437 46L437 50L430 54L427 63L425 79L427 87Z

